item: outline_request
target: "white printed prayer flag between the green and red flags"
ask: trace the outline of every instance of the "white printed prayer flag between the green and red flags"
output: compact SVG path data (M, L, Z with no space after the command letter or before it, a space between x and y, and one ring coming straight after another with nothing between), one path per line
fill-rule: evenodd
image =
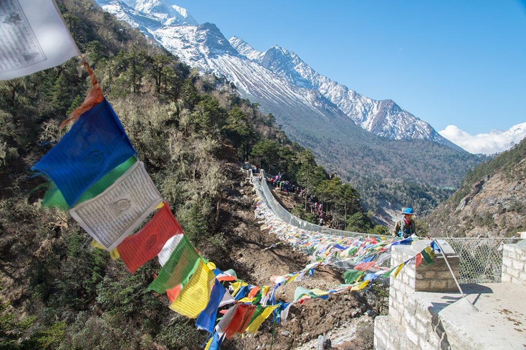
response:
M143 162L136 162L95 198L69 209L69 214L104 249L112 251L163 201Z

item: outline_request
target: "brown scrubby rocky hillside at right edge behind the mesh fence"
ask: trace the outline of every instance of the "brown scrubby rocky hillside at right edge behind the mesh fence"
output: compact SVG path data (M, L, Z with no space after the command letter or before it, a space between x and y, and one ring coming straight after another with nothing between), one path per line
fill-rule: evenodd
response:
M426 221L433 236L512 237L526 229L526 139L469 172Z

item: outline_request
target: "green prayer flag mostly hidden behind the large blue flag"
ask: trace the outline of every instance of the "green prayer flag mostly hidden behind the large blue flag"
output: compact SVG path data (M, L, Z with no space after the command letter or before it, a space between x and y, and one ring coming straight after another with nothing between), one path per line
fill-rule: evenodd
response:
M135 158L135 156L131 156L124 163L117 165L115 168L112 169L112 171L104 175L102 178L99 179L99 181L90 186L86 190L86 192L84 192L82 196L80 196L77 203L81 203L85 200L92 199L98 196L99 194L103 193L106 188L113 185L113 183L120 176L122 176L132 165L135 164L135 162L137 162L137 158ZM46 194L42 199L42 206L57 207L64 211L68 211L70 207L67 205L66 199L64 199L64 196L58 189L57 185L54 182L49 182L49 184L50 187L46 191Z

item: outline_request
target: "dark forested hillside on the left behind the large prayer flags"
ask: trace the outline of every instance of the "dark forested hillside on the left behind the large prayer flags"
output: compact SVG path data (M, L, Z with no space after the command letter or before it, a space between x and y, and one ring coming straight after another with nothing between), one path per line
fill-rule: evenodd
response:
M238 190L245 160L308 187L339 225L358 214L359 229L373 229L356 190L329 179L310 151L291 143L271 114L240 99L228 82L199 76L89 0L57 3L155 185L188 238L218 267L235 267L240 277L254 273L231 253L246 242L233 232L247 234L238 226L252 210ZM41 208L44 179L29 169L64 135L58 125L90 88L77 66L70 60L0 82L0 348L198 348L203 333L171 312L164 296L144 292L156 261L132 275L90 248L67 213Z

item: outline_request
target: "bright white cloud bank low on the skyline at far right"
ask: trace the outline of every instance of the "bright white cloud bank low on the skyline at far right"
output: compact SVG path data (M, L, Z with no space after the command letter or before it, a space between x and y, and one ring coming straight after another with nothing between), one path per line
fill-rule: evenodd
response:
M508 150L511 142L519 143L524 139L526 123L514 125L507 131L474 136L460 130L456 125L448 125L438 133L470 153L493 154Z

